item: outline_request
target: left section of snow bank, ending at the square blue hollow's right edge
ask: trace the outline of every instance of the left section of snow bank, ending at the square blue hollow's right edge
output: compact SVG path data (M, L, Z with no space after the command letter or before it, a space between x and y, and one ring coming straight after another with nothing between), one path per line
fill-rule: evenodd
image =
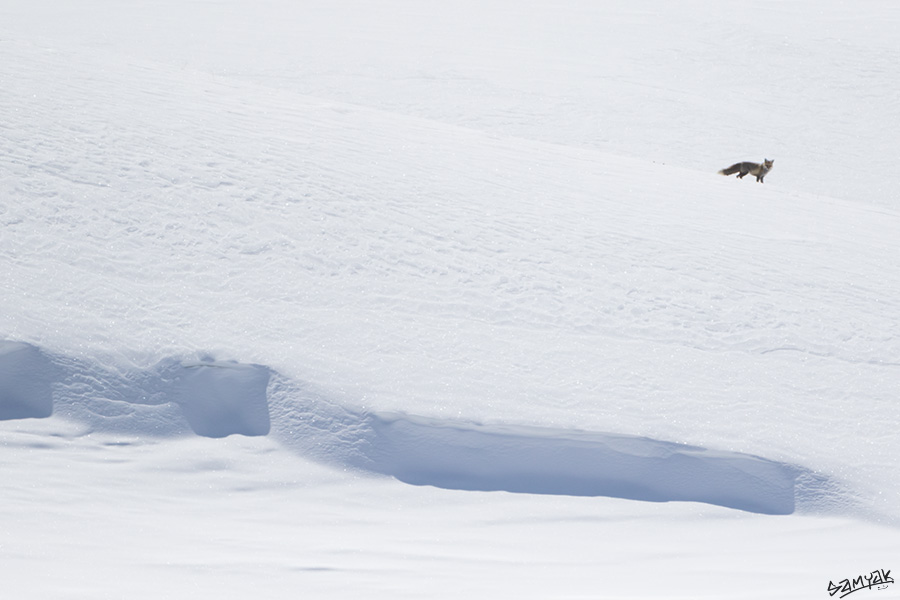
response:
M100 431L266 435L269 376L258 365L208 359L116 372L0 340L0 420L56 412Z

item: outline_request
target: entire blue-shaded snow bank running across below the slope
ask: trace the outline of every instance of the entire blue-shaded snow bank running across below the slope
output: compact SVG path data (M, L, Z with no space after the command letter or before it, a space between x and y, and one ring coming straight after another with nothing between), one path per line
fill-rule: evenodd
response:
M0 419L137 435L268 435L316 460L458 490L694 501L784 515L833 493L795 465L646 437L483 425L336 405L262 365L177 358L113 371L0 341ZM48 407L52 396L54 406ZM26 408L23 408L26 407ZM49 410L48 410L49 408Z

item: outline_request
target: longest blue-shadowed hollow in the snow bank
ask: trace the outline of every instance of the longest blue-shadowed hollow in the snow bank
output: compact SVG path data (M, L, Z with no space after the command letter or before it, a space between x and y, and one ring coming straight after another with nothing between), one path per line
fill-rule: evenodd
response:
M636 436L405 415L372 415L369 422L376 434L373 469L407 483L794 512L798 470L747 454Z

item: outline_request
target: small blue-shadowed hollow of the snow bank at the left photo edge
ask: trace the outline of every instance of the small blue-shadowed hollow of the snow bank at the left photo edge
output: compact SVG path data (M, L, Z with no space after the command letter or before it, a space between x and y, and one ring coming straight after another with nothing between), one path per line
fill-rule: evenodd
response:
M35 346L0 340L0 420L53 414L54 371Z

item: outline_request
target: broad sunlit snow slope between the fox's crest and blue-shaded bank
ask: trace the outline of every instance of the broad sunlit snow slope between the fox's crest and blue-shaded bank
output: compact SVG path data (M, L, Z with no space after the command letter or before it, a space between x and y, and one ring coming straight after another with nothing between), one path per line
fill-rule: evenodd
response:
M749 453L897 505L882 476L900 339L889 209L13 50L49 61L23 79L83 78L31 99L34 142L5 180L7 197L37 196L4 213L14 338L113 368L263 364L357 410ZM166 90L155 128L125 110L148 89ZM65 105L89 133L50 117ZM117 110L153 131L146 146L101 127ZM116 177L58 175L72 167L38 142L47 123L80 174ZM47 177L71 191L41 198Z

